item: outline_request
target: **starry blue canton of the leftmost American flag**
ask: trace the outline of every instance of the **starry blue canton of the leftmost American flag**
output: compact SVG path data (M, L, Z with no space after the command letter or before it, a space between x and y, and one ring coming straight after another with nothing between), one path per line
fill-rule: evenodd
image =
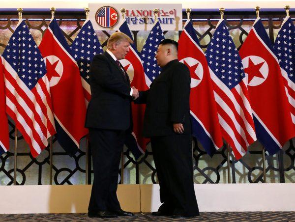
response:
M30 90L46 74L43 57L24 20L10 37L3 57Z

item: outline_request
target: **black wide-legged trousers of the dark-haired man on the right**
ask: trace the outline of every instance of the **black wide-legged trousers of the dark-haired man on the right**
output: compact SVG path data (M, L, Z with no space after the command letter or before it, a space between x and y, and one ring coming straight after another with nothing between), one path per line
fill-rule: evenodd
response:
M193 183L191 135L173 134L150 139L160 185L159 210L165 214L198 216Z

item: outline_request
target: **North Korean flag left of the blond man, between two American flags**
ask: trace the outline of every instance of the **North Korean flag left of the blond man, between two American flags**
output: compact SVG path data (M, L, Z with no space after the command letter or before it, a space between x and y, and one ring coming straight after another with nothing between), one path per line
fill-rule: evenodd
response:
M39 49L50 83L56 138L72 156L79 148L80 139L88 134L84 127L86 105L78 64L55 19L46 29Z

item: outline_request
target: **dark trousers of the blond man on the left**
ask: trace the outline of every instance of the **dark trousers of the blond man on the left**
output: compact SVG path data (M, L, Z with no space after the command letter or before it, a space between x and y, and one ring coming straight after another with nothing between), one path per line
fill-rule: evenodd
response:
M118 210L118 169L125 140L123 130L89 129L94 180L89 211Z

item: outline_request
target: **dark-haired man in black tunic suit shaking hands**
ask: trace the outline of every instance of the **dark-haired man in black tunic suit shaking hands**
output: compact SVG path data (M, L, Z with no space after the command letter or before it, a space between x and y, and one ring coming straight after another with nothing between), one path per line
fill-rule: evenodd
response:
M145 137L150 138L163 203L154 216L174 218L199 215L194 192L190 73L177 60L176 41L163 40L155 55L162 68L150 89L140 92L136 103L146 103Z

